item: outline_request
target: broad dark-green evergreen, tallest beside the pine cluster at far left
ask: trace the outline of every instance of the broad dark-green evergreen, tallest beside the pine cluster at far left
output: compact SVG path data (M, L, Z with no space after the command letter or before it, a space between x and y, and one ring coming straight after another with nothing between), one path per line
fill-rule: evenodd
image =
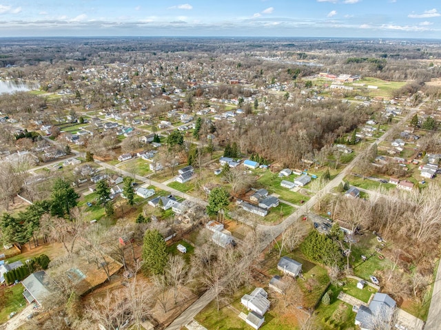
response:
M52 216L63 217L70 213L70 209L76 206L76 200L79 195L76 194L74 188L61 178L57 178L52 185L52 194L50 195Z

